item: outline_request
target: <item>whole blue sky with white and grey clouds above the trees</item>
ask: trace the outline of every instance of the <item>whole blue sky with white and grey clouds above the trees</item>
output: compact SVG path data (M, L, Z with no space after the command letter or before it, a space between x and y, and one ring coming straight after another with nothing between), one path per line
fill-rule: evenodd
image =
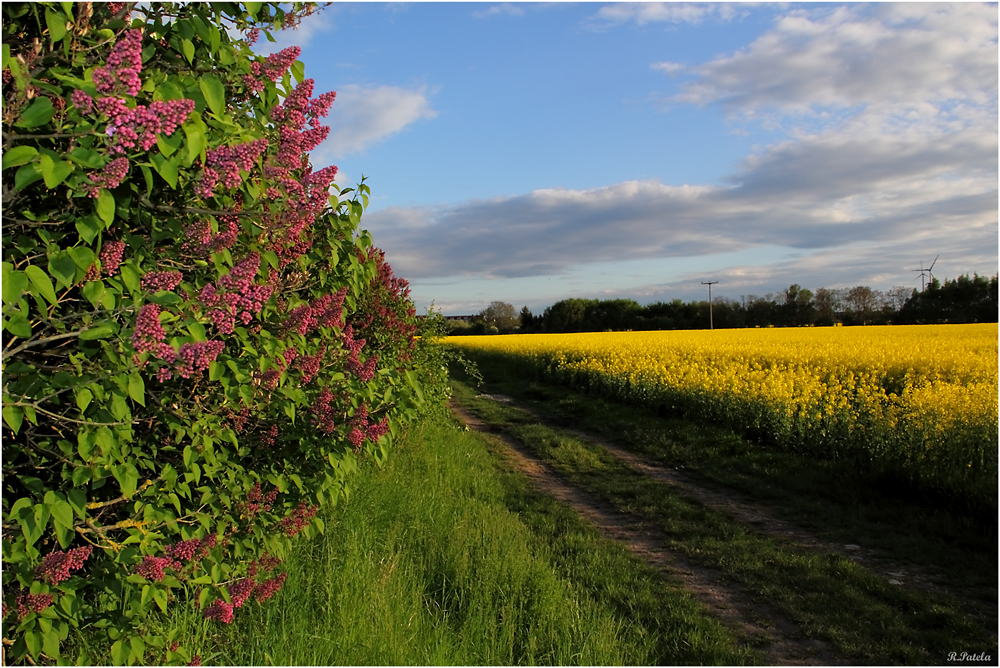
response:
M919 288L998 263L996 4L336 3L312 154L418 312Z

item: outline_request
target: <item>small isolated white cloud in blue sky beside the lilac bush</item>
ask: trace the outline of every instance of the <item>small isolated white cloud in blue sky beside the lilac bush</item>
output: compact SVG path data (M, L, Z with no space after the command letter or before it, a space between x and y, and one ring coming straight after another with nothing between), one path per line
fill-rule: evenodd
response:
M359 153L408 125L435 116L426 86L408 89L348 84L337 91L327 117L330 135L316 149L317 155L335 159Z

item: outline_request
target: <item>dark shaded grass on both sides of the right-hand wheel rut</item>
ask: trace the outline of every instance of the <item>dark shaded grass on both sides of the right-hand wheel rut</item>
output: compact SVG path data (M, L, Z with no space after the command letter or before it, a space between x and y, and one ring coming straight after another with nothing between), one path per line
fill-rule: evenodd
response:
M982 536L968 535L961 518L951 518L954 523L949 525L947 517L935 515L933 509L928 512L919 504L871 490L847 499L845 495L863 486L856 474L851 482L848 472L838 471L834 464L768 449L728 430L663 419L563 388L504 378L489 367L482 371L486 378L498 379L487 385L489 391L529 401L536 409L572 420L575 427L600 433L661 464L684 467L709 484L739 489L789 519L808 519L804 523L826 538L888 548L917 563L964 563L962 574L954 572L951 584L978 583L987 597L992 595L995 606L995 539L988 545ZM894 586L840 555L760 535L636 475L599 445L539 424L509 405L476 398L468 387L459 386L456 398L582 488L622 511L656 522L673 549L719 569L852 661L935 664L958 647L985 650L996 657L995 639L988 638L952 600ZM892 531L880 534L885 527ZM971 574L970 565L975 571Z

